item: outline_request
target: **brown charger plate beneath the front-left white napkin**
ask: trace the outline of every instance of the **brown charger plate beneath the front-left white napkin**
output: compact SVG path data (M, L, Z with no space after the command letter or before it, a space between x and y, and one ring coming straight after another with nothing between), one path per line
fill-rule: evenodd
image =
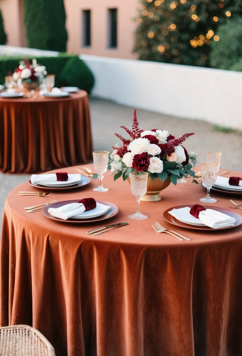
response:
M112 218L113 216L117 215L117 213L119 212L119 207L113 203L109 203L109 201L103 201L103 200L96 200L97 203L101 203L104 205L109 205L110 209L99 216L93 217L93 218L89 218L89 219L78 219L78 218L70 218L67 220L63 220L60 218L56 218L55 216L52 216L50 213L48 213L48 209L51 208L60 208L60 206L62 205L66 205L66 204L71 204L71 203L78 203L80 199L77 200L65 200L65 201L58 201L54 204L51 204L49 206L45 206L45 208L43 209L43 214L45 216L47 216L47 218L52 219L52 220L56 220L59 221L60 223L69 223L69 224L80 224L80 223L95 223L96 221L102 221L102 220L107 220Z

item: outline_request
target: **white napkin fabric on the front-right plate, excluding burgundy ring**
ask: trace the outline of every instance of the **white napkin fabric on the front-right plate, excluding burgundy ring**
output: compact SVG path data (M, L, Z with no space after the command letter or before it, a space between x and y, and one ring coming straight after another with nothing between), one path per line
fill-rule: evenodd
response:
M220 211L213 209L206 209L200 211L199 218L195 218L195 216L190 214L191 208L185 206L180 209L173 209L169 211L169 214L174 216L182 223L190 224L190 225L207 225L212 229L219 229L220 227L234 226L236 220L231 216L221 213Z

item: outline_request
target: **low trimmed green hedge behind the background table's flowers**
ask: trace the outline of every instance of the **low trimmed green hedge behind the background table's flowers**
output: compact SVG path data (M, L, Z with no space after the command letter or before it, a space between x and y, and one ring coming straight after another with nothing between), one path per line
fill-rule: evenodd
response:
M94 76L87 65L78 56L61 54L58 57L7 57L0 56L0 83L4 83L4 77L9 70L12 72L24 58L32 62L33 58L37 63L46 67L47 73L55 74L55 87L78 87L91 92L94 85Z

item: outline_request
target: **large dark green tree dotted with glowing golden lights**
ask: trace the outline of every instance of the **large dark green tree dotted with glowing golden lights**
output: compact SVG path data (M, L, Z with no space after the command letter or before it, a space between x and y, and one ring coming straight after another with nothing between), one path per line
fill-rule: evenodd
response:
M141 0L134 52L147 61L209 66L219 24L241 15L240 0Z

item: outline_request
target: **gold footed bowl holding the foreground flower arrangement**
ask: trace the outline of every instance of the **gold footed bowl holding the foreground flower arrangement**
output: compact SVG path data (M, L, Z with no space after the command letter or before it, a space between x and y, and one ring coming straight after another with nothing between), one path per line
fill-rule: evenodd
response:
M128 183L130 183L130 178L128 178L127 181ZM152 180L150 177L148 177L147 192L145 193L145 195L143 195L143 197L141 197L140 200L142 201L161 200L162 199L160 196L161 190L167 188L170 183L171 183L170 177L167 177L165 182L163 182L163 180L159 178Z

